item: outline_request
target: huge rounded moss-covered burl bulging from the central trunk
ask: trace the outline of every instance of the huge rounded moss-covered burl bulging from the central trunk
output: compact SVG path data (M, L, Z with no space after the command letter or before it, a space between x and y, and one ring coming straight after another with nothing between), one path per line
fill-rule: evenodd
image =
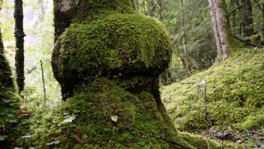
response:
M172 54L168 33L151 17L117 12L71 24L53 50L54 75L62 87L96 77L156 78ZM75 87L76 88L76 87Z

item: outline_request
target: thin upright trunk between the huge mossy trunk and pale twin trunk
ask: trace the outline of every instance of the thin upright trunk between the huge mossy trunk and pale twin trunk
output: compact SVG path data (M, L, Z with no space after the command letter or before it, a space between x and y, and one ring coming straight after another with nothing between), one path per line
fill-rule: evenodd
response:
M184 26L184 17L183 17L183 0L180 0L180 8L181 8L182 45L183 45L183 53L184 53L183 58L185 63L185 70L188 76L191 75L191 69L189 64L189 55L186 47L185 26Z

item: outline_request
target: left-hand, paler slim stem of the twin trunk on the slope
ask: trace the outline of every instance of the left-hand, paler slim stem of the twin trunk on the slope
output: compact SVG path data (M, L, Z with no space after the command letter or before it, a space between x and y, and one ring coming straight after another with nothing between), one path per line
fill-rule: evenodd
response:
M217 45L217 59L216 59L216 61L218 61L223 54L222 53L221 40L220 40L220 36L219 36L219 32L218 32L218 25L217 25L217 20L216 20L216 11L215 11L214 2L212 0L208 0L208 2L209 2L209 9L210 9L210 14L211 14L213 31L215 34L216 45Z

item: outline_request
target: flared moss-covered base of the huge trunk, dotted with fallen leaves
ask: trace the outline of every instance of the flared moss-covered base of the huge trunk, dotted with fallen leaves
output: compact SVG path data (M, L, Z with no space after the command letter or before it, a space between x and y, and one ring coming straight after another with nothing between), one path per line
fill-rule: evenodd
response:
M32 137L18 139L17 146L37 149L207 149L204 138L178 134L173 124L166 121L151 94L142 91L133 95L117 82L100 78L91 83L86 93L67 99L53 109L35 113L30 130ZM220 149L220 145L211 140L209 144L210 149Z

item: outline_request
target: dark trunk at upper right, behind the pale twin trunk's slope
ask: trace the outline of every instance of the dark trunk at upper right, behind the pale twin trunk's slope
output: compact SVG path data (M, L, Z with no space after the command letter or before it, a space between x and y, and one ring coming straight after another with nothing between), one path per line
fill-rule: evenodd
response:
M239 4L242 5L240 9L242 33L244 36L250 37L254 34L251 1L239 0Z

